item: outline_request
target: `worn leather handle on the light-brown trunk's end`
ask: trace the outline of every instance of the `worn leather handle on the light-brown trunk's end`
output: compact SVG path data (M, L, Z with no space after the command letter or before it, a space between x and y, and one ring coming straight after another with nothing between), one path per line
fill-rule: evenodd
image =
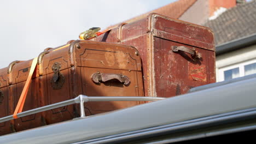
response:
M129 77L121 74L104 74L104 73L95 73L91 76L92 81L95 83L100 83L100 82L106 82L109 80L117 79L120 82L124 83L124 85L128 85L130 83Z

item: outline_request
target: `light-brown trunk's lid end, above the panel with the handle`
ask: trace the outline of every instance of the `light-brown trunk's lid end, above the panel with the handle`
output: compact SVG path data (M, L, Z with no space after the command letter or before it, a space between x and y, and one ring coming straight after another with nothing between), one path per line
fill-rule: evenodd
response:
M75 49L75 61L80 67L141 70L141 59L131 46L105 43L79 43Z

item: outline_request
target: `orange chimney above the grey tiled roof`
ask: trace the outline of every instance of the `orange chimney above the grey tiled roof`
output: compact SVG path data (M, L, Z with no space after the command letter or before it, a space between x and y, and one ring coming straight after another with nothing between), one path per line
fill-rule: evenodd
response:
M243 0L209 0L209 8L210 8L210 16L214 15L214 11L220 9L220 8L232 8L236 6L237 1L243 1Z

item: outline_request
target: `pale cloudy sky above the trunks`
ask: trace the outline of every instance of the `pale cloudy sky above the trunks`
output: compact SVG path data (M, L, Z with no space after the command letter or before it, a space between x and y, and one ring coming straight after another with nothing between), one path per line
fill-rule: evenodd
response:
M37 57L47 47L78 39L177 0L8 0L0 5L0 68Z

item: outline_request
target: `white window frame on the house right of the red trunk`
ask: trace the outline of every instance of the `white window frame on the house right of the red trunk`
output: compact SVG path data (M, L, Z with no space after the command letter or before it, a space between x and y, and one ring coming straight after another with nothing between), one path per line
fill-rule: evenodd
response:
M256 63L256 59L252 59L249 61L232 64L223 68L219 68L219 81L224 81L224 71L239 68L239 76L245 76L245 65Z

